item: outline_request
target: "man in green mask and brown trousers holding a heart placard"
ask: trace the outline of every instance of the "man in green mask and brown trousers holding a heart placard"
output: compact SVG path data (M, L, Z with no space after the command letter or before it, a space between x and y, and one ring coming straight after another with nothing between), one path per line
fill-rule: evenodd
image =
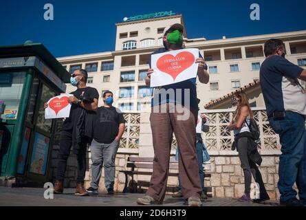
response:
M155 87L151 129L154 147L153 174L142 205L162 203L166 193L173 132L179 146L179 178L188 206L201 206L201 184L195 151L197 124L196 77L208 83L207 65L197 49L183 49L181 24L165 28L164 48L151 55L146 85ZM161 80L162 79L162 80Z

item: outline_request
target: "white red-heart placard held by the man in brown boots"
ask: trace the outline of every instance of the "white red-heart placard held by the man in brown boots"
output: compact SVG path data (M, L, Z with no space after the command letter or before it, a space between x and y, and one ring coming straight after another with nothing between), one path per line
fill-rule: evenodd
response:
M45 109L45 119L50 118L69 118L72 104L68 102L69 96L72 94L65 94L51 98L47 104L49 107Z

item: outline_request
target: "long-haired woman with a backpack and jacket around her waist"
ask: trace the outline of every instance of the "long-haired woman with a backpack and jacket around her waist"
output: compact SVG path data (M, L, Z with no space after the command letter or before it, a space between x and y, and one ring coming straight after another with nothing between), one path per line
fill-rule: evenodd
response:
M241 168L244 173L244 195L239 198L239 201L251 201L250 198L250 186L252 182L252 175L259 184L260 197L259 199L253 199L254 202L267 201L270 199L261 173L256 164L260 166L262 159L261 155L257 151L257 144L255 140L259 137L256 136L256 122L254 122L254 116L248 102L248 96L245 92L239 91L232 97L232 104L237 106L233 115L233 120L228 125L228 129L234 130L235 140L232 145L232 149L237 148L239 153L239 159L241 161ZM250 126L253 124L252 126ZM253 128L253 129L252 129ZM254 135L255 133L255 135Z

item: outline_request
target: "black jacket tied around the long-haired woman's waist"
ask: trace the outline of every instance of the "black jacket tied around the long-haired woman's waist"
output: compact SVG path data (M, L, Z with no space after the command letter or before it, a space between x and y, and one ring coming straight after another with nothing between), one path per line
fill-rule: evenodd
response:
M257 150L257 144L252 139L252 134L250 132L245 131L243 133L235 135L234 142L232 142L232 151L237 149L237 143L239 138L241 137L248 137L248 157L252 160L252 162L260 166L263 159L261 158L261 155Z

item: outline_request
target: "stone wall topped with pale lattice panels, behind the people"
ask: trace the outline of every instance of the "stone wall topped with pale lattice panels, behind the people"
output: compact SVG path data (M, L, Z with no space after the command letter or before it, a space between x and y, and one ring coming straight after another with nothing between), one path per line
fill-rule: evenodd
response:
M210 153L210 172L211 177L206 177L205 185L212 190L212 197L241 197L244 190L244 175L240 165L240 160L237 151L231 151L230 146L233 140L232 133L226 131L225 126L231 120L232 111L214 112L209 111L205 113L210 120L210 131L204 133L205 144ZM140 115L131 113L131 115L124 115L129 119L122 143L118 150L116 157L116 180L114 189L122 192L125 183L125 176L120 173L120 170L126 170L127 158L130 155L138 155L140 157L153 157L153 143L151 138L151 127L149 122L149 112L142 112ZM279 155L279 139L278 136L270 129L266 120L266 113L264 110L258 109L255 111L255 118L259 123L261 130L261 145L259 151L263 157L263 163L259 167L261 175L267 192L272 200L279 199L279 192L277 188L278 181L278 162ZM129 138L129 137L133 138ZM173 140L171 149L171 160L175 159L176 141ZM54 146L52 152L52 166L50 168L50 181L55 177L56 158L58 153L58 146ZM91 153L87 153L87 171L85 177L85 186L89 186L90 182L90 167L91 167ZM134 180L138 183L149 183L150 176L135 175ZM131 179L129 179L131 181ZM254 179L252 179L254 182ZM67 162L67 171L65 175L65 187L76 186L76 156L71 155ZM140 186L140 184L139 184ZM171 193L177 190L177 177L168 178L168 192ZM138 187L140 192L144 192L146 186ZM135 189L135 188L133 188ZM102 170L102 177L100 179L100 190L105 190L104 185L104 170Z

